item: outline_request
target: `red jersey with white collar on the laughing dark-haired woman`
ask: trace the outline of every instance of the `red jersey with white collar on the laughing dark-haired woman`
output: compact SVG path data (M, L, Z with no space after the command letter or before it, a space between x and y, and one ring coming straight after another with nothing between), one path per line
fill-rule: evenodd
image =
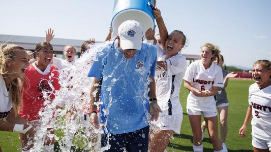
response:
M46 72L48 71L48 72ZM44 72L40 71L35 63L25 70L25 77L28 82L23 86L23 103L19 110L19 115L27 121L39 120L39 110L44 107L44 97L42 91L46 91L47 99L53 100L55 90L59 90L59 73L56 67L48 65Z

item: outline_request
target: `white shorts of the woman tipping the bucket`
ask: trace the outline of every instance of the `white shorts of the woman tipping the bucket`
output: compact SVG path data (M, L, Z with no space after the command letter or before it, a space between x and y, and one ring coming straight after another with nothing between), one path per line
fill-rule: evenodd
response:
M180 127L182 126L183 113L176 115L165 115L164 112L160 113L157 121L152 121L159 130L173 130L176 134L180 134Z

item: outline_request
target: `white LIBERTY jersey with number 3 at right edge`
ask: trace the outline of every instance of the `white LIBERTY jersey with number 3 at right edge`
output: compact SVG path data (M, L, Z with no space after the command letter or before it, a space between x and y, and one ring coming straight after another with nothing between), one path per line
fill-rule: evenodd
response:
M263 89L256 83L251 85L249 104L252 107L252 136L271 140L271 85Z

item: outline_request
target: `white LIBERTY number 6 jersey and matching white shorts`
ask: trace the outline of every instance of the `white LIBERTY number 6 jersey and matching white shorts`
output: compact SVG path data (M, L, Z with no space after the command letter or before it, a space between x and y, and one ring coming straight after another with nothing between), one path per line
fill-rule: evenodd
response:
M222 69L215 63L205 69L202 60L191 63L184 77L191 86L198 90L212 90L212 87L223 87ZM187 109L199 111L217 111L214 96L197 97L192 92L187 97Z

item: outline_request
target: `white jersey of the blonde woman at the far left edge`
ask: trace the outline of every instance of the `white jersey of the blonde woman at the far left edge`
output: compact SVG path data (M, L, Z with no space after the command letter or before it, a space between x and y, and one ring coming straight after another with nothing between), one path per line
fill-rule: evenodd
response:
M7 90L5 80L0 75L0 120L7 118L11 110L12 101L10 100L10 94Z

